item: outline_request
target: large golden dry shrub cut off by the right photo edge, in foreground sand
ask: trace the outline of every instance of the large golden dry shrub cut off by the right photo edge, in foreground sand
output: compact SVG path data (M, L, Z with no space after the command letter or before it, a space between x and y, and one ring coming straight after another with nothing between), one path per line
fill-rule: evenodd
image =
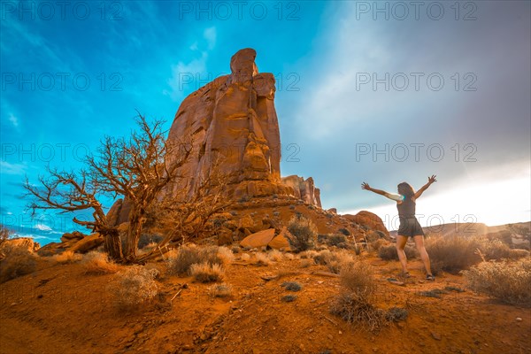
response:
M468 287L505 304L531 306L531 258L482 262L465 274Z

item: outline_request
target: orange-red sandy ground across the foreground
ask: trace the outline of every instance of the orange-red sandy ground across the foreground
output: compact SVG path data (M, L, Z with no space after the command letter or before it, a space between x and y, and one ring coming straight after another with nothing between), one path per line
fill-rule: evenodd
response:
M2 353L528 353L531 309L495 304L471 291L442 298L420 291L465 288L459 275L423 281L419 261L411 262L405 286L397 262L362 255L375 267L378 306L404 307L409 316L380 333L350 327L329 313L339 280L315 274L324 266L301 268L300 260L271 266L236 260L225 281L233 296L211 299L208 284L190 278L158 279L161 295L135 312L120 312L105 293L112 274L88 275L79 264L41 260L37 272L0 286ZM160 269L164 265L158 263ZM264 281L263 275L281 274ZM298 281L291 293L283 281ZM187 283L173 301L171 298ZM292 303L281 296L296 294ZM518 321L517 318L522 319Z

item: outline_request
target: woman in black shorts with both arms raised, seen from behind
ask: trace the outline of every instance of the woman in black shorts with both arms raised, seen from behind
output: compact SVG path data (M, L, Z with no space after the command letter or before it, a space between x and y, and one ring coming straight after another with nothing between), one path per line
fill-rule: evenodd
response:
M417 192L415 192L411 185L402 182L398 185L398 194L388 193L380 189L373 189L366 182L361 184L362 189L370 190L371 192L386 196L389 199L396 201L398 218L400 219L400 227L398 227L398 235L396 235L396 252L398 253L398 259L400 259L400 264L402 265L402 274L406 278L410 277L410 273L407 271L407 258L405 257L404 247L407 243L407 238L412 237L417 245L417 250L419 250L422 263L424 263L424 267L426 268L426 280L435 281L435 277L431 273L429 256L424 247L424 231L422 231L419 221L415 218L415 201L419 199L419 196L421 196L432 183L437 181L435 177L435 175L428 177L427 183Z

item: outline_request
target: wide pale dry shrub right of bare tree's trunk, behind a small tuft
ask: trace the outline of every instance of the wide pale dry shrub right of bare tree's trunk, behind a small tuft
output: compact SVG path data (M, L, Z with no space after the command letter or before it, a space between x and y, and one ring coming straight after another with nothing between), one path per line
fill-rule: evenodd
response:
M197 247L195 245L181 246L168 257L168 271L175 274L189 274L192 265L207 263L209 265L222 265L219 258L218 247Z

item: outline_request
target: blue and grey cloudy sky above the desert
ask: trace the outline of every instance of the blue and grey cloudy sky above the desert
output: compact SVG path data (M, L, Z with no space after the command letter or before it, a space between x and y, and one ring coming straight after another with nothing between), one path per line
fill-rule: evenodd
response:
M376 212L360 189L419 189L423 225L498 225L530 216L528 1L2 1L2 222L58 238L71 222L31 220L20 183L46 164L79 168L135 110L167 120L184 97L254 48L277 78L282 175L312 176L324 208Z

